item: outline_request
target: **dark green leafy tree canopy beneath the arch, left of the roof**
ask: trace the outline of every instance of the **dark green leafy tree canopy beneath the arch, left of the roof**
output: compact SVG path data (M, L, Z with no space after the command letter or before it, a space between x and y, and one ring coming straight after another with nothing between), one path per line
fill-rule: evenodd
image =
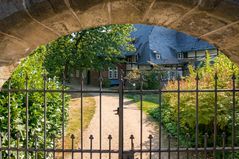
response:
M122 52L134 51L133 25L109 25L59 38L47 46L45 65L51 75L66 78L78 69L103 70L119 62Z

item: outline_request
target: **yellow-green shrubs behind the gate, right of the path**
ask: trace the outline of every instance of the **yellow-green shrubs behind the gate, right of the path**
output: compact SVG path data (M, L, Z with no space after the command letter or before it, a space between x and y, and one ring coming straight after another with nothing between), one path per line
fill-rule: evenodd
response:
M202 67L194 70L189 66L190 75L180 82L180 89L193 90L196 89L196 74L199 74L199 89L214 89L215 79L214 75L218 76L218 89L232 88L232 75L236 74L238 77L239 69L223 54L219 54L215 58L214 63L211 62L209 54L207 54ZM238 84L238 79L236 81ZM177 81L170 81L166 89L177 90ZM177 95L173 93L165 93L163 95L162 105L162 121L166 130L172 135L177 135L177 115L178 115L178 100ZM227 145L230 145L231 139L231 125L232 125L232 93L219 92L217 94L217 142L221 143L221 134L223 132L227 135ZM198 126L199 126L199 146L203 146L203 135L208 133L208 145L213 144L213 124L214 124L214 107L215 107L215 93L199 93L199 111L198 111ZM236 105L239 99L236 99ZM186 144L185 134L189 133L191 136L191 145L195 141L195 127L196 127L196 93L183 93L180 95L180 141L182 145ZM158 119L159 109L152 110L150 114ZM236 112L237 121L239 112ZM190 119L190 120L189 120ZM238 129L238 128L237 128Z

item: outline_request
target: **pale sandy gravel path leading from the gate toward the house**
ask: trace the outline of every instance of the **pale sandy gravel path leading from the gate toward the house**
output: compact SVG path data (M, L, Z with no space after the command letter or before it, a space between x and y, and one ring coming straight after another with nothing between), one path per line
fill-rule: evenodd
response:
M84 149L90 149L89 136L93 135L93 149L99 149L100 143L100 104L99 95L91 94L94 96L96 101L96 112L89 125L89 127L84 131ZM112 135L112 150L118 150L118 130L119 130L119 117L115 115L114 110L118 108L119 98L118 94L103 94L102 95L102 150L109 149L108 135ZM153 135L152 149L158 148L159 145L159 129L157 125L150 121L145 114L143 114L143 149L149 149L149 139L148 136ZM140 110L137 104L133 103L129 99L124 99L124 149L130 150L131 142L130 135L133 134L134 147L135 149L140 148ZM167 148L168 145L167 135L162 132L161 135L161 146ZM79 146L80 147L80 146ZM171 153L171 159L176 158L176 154ZM80 159L80 154L75 154L75 158ZM89 159L90 154L84 153L84 159ZM99 159L99 154L92 154L93 159ZM109 154L102 153L102 159L109 158ZM112 154L112 159L118 159L118 154ZM135 159L139 158L139 154L135 154ZM149 154L144 153L143 159L149 158ZM158 159L158 153L152 153L152 159ZM181 157L180 157L181 158ZM168 159L168 153L161 153L161 159Z

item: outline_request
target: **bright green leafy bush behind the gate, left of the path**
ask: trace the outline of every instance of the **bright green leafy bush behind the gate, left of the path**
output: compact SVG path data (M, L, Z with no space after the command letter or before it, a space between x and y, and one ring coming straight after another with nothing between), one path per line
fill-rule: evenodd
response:
M28 75L28 88L43 90L43 62L46 53L46 47L41 46L36 49L29 57L21 62L11 77L10 87L13 89L26 88L26 76ZM3 88L8 88L9 82L4 84ZM47 89L61 89L62 85L56 78L47 78ZM46 147L52 147L52 136L56 138L61 134L61 115L62 115L62 99L61 93L46 93L47 104L47 124L46 124ZM14 92L10 94L11 106L11 147L17 145L17 134L20 135L19 146L26 147L26 93ZM68 108L69 96L65 97L65 112ZM8 93L0 94L0 128L2 135L2 145L8 145ZM38 147L43 148L44 143L44 94L42 92L29 93L29 147L34 147L35 136L38 138ZM67 120L67 113L65 113ZM7 152L3 153L6 158ZM43 158L42 153L38 154L38 158ZM48 156L49 157L49 156ZM11 154L11 158L16 158L16 153ZM20 153L20 158L24 158L24 154ZM29 153L29 158L33 158L33 154Z

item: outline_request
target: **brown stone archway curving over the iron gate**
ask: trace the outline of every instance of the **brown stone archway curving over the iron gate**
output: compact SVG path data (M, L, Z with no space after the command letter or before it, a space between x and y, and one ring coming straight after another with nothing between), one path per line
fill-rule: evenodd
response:
M125 23L197 36L239 64L239 0L1 0L0 85L41 44L82 29Z

